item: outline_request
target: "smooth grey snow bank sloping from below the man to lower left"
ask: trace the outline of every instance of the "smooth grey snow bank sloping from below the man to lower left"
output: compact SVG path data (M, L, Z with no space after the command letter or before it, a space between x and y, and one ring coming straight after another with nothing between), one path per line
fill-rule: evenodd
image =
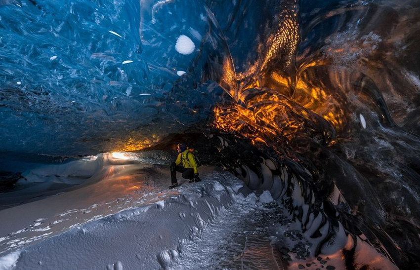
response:
M211 181L181 186L142 207L75 226L28 246L23 254L2 257L0 269L167 269L226 207L238 199L255 203L255 195L244 196L242 182L232 178L213 172Z

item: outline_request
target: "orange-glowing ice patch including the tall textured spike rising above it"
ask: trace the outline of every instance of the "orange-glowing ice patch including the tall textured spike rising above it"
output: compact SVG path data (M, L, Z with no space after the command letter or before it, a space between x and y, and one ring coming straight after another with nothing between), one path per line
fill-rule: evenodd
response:
M282 11L277 28L258 44L258 59L236 76L240 82L237 96L229 92L236 103L213 109L215 128L245 136L254 144L270 145L318 134L329 143L333 136L314 127L329 122L330 135L343 129L346 113L345 107L337 102L340 100L337 92L325 85L314 85L312 74L305 72L326 63L302 63L295 70L294 55L299 40L296 12L294 8ZM234 85L235 74L230 64L224 63L222 83Z

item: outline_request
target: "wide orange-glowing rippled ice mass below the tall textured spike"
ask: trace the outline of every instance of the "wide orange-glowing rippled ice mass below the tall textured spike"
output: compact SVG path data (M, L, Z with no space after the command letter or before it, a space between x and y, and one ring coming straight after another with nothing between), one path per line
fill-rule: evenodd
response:
M276 85L286 85L288 80L272 74ZM314 87L303 80L296 84L296 98L288 97L277 89L253 88L241 93L246 107L232 104L228 108L213 109L215 128L250 138L253 143L290 142L298 134L314 132L311 122L318 116L340 130L344 125L344 111L331 94L321 87ZM318 116L317 116L318 115Z

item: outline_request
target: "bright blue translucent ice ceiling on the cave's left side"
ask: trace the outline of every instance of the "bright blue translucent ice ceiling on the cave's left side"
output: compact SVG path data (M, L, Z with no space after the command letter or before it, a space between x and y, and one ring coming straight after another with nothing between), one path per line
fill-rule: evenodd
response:
M201 1L3 2L1 151L94 154L206 118L230 61L211 16Z

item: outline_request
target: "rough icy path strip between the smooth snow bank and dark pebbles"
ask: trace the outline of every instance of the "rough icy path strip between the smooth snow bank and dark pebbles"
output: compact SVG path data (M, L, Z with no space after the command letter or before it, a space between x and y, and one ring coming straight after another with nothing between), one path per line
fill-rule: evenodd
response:
M286 269L286 261L272 244L275 239L267 233L275 211L270 205L258 208L233 204L183 246L182 259L170 269Z

